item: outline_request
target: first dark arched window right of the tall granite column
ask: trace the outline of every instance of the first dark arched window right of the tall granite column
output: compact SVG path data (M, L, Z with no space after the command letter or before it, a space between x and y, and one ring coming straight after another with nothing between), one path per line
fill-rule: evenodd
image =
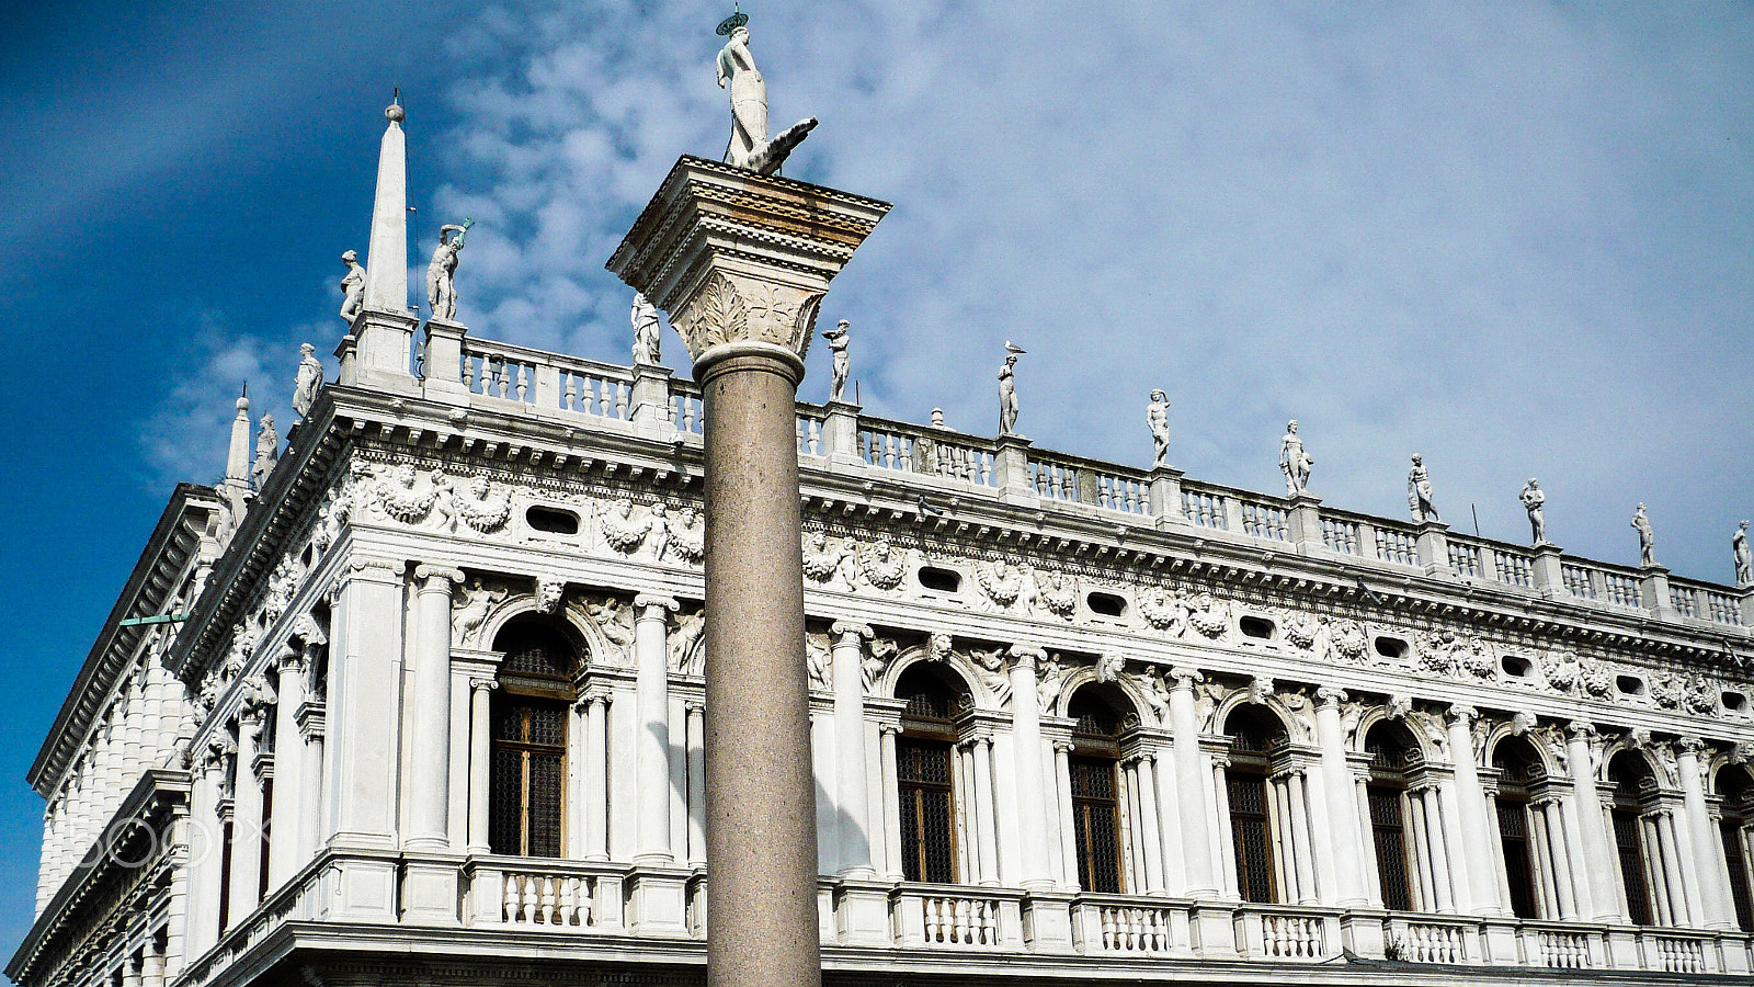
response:
M930 664L902 673L896 738L896 799L902 808L902 875L910 882L956 883L956 715L968 687Z

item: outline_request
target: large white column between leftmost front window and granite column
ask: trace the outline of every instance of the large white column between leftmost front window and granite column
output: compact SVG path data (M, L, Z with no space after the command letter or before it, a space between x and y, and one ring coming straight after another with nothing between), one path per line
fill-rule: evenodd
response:
M670 597L640 594L633 599L635 694L640 715L635 743L638 822L633 861L668 864L670 850Z

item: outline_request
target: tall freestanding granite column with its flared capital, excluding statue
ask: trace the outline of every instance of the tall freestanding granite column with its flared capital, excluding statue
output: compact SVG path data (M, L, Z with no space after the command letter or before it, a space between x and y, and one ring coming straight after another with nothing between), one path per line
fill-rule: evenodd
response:
M821 983L795 399L889 204L684 156L609 260L695 360L707 499L707 978Z

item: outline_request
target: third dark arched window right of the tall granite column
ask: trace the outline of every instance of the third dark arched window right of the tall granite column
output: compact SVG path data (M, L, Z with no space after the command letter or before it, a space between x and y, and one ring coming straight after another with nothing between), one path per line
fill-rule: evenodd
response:
M1266 776L1270 753L1286 739L1286 727L1263 706L1238 706L1224 722L1230 736L1230 766L1224 792L1230 806L1230 836L1237 855L1237 894L1244 901L1277 903L1282 876L1273 864L1275 799Z

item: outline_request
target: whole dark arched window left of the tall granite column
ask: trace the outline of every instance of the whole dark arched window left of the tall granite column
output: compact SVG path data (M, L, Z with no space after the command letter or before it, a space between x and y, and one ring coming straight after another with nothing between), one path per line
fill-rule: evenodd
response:
M560 857L567 790L567 710L575 650L542 623L509 623L493 695L488 847L517 857Z

